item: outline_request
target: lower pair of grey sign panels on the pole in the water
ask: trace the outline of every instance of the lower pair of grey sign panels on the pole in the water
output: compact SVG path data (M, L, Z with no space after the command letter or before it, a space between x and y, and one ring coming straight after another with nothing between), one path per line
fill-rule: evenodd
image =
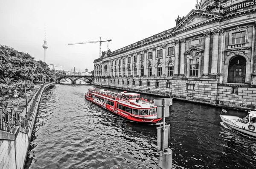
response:
M169 148L169 138L170 138L170 124L165 126L164 138L163 138L163 126L157 127L157 152L163 150L163 139L164 139L164 149Z

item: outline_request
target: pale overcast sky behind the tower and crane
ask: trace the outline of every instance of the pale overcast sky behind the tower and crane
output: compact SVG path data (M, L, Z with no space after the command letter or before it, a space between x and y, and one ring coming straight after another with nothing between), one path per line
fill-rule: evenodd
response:
M200 1L200 0L199 0ZM199 2L198 1L198 2ZM0 0L0 45L64 70L90 71L102 51L118 50L175 27L177 16L195 9L197 0Z

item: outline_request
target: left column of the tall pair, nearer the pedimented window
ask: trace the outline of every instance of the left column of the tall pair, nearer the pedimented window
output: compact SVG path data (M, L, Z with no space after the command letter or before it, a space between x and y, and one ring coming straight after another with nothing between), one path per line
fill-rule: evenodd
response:
M204 71L203 76L209 75L209 56L210 56L210 37L211 31L204 32L205 43L204 43Z

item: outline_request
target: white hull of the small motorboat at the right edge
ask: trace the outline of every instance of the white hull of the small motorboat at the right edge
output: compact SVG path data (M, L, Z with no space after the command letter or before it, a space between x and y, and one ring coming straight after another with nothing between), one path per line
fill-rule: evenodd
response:
M228 127L231 127L232 129L242 132L246 135L256 137L256 131L249 130L247 128L248 124L242 124L241 122L239 122L241 118L231 115L220 115L220 117L224 124Z

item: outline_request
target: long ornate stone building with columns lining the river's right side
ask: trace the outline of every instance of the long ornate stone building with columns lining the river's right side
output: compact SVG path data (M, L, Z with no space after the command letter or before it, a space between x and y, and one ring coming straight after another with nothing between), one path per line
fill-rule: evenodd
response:
M94 84L256 108L256 0L201 0L176 26L103 52Z

